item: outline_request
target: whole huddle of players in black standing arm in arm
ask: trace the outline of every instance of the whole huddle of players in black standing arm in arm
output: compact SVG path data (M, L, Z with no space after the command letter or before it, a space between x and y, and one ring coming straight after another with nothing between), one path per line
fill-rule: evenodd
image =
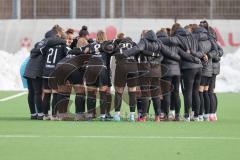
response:
M55 25L24 66L30 118L216 121L222 56L207 21L143 30L138 42L124 33L109 40L102 30L92 39L87 26L74 37L73 29Z

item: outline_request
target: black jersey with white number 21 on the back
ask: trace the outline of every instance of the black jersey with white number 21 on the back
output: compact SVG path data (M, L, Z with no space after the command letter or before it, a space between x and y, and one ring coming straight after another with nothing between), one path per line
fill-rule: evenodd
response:
M66 42L60 38L50 38L43 48L41 53L45 56L45 65L43 68L43 77L51 77L57 63L67 56L70 48Z

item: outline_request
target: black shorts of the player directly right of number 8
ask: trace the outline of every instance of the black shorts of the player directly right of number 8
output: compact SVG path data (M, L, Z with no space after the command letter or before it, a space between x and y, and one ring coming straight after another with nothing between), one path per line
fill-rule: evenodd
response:
M119 62L116 65L114 86L136 87L138 85L138 64L136 62Z

